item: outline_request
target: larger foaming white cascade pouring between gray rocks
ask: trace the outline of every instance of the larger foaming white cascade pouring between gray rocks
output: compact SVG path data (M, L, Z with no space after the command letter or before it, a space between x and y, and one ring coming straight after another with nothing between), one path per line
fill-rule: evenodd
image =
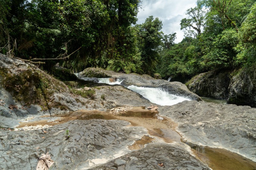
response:
M172 106L184 100L190 100L185 97L169 94L168 92L165 92L160 88L137 87L135 85L130 85L127 88L141 94L150 102L156 103L161 106Z

